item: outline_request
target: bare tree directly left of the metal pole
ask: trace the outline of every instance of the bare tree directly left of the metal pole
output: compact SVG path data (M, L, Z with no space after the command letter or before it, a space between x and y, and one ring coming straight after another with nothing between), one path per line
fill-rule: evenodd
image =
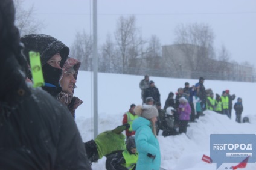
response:
M71 47L71 56L81 62L81 70L90 71L92 69L91 51L91 36L87 35L85 31L77 32Z

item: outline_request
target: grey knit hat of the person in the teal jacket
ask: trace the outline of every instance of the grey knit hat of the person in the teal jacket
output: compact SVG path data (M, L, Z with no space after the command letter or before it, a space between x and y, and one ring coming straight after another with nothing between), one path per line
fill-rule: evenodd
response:
M137 105L134 109L135 114L150 120L153 117L158 117L158 109L152 105Z

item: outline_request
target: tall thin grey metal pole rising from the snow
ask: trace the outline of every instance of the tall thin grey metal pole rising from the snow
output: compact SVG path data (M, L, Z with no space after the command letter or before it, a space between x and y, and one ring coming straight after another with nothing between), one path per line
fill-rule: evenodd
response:
M93 0L93 51L94 61L94 139L98 135L98 49L97 49L97 0Z

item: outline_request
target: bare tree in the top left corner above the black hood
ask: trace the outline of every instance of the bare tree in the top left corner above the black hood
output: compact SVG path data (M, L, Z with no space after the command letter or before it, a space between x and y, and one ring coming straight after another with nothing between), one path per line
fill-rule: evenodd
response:
M34 18L33 5L27 10L24 9L24 0L14 0L16 8L15 25L18 27L21 36L39 33L44 26L41 20Z

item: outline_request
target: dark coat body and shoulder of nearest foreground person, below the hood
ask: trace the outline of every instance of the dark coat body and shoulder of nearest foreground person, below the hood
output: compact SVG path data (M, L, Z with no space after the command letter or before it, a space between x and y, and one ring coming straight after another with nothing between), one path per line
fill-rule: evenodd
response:
M10 99L1 102L1 169L91 169L65 106L38 88Z

